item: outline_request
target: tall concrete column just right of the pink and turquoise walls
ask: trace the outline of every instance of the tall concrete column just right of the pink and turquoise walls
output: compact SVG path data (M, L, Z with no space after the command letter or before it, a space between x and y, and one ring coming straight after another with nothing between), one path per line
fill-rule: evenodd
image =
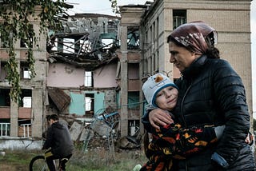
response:
M128 64L127 64L127 26L121 26L121 90L120 90L120 104L121 104L121 137L128 135Z

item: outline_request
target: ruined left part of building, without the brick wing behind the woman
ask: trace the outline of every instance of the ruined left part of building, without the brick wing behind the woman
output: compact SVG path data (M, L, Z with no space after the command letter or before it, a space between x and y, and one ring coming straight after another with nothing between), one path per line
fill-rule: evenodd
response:
M26 55L21 53L19 58L24 58L24 62L20 60L20 67L24 67L21 72L28 77L24 84L22 82L22 100L26 104L22 106L8 98L10 85L5 80L4 68L8 54L1 51L1 87L4 88L1 89L0 122L3 140L12 141L14 137L40 139L47 129L46 116L52 113L58 113L70 126L74 141L86 140L86 125L93 125L96 129L104 126L116 129L119 137L138 134L142 103L139 101L139 22L125 36L121 33L120 22L121 18L102 14L75 14L63 20L63 30L49 31L49 39L40 39L40 43L46 43L44 46L40 44L45 48L40 50L43 54L34 50L34 56L43 57L36 58L36 78L27 76L30 71L25 62ZM34 28L38 28L38 22ZM124 71L120 62L124 58L121 43L127 41L126 37L126 51L131 51L130 70L126 71L129 80L122 76ZM26 53L26 50L24 47L20 51ZM95 118L103 124L94 123ZM18 124L14 124L16 122ZM17 128L19 133L14 132ZM6 147L6 144L2 146Z

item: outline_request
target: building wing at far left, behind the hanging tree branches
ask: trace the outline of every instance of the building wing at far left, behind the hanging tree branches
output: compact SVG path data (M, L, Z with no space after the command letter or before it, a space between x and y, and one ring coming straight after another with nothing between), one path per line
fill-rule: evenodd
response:
M35 11L39 10L39 7L35 9ZM30 18L30 24L34 27L35 36L40 38L37 42L33 42L34 68L36 69L34 78L30 78L30 70L26 62L28 50L26 45L22 43L22 40L14 44L22 88L22 101L19 104L12 101L9 96L11 86L6 80L5 70L9 54L6 53L6 48L1 43L0 137L42 137L42 119L46 111L46 104L43 100L46 97L46 36L39 34L40 21Z

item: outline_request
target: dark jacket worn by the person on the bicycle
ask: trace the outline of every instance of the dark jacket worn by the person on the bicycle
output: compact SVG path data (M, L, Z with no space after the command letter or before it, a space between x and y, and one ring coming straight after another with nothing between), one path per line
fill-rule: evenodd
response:
M54 122L47 130L47 138L42 149L49 149L56 157L66 157L73 153L74 144L70 131L59 121Z

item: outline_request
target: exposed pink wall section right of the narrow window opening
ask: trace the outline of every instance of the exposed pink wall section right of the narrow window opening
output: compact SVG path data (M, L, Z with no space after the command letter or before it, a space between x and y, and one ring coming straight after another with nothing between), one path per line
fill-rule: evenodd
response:
M99 68L98 70L94 70L94 87L116 87L118 85L115 80L117 66L117 64L112 63L106 66L102 66L102 68Z

